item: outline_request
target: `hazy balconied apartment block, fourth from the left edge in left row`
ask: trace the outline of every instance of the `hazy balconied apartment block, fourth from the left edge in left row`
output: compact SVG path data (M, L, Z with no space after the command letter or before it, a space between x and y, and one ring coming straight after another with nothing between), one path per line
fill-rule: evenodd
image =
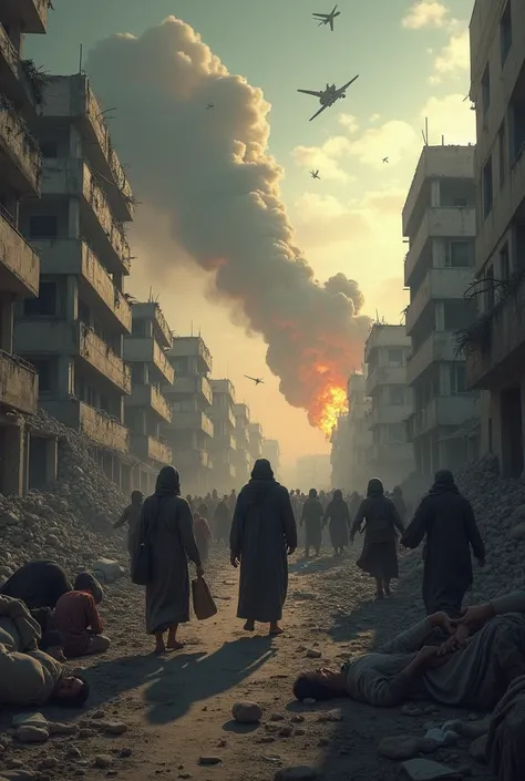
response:
M184 491L204 495L214 487L212 354L200 337L174 337L166 354L175 381L163 389L172 403L172 421L164 425L164 433Z

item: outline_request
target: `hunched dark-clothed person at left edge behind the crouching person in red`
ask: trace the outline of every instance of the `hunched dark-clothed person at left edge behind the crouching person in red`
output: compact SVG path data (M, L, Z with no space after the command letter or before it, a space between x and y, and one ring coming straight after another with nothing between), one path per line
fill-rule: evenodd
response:
M60 564L45 559L29 562L0 586L0 594L21 599L30 610L54 609L60 597L72 590L71 580Z

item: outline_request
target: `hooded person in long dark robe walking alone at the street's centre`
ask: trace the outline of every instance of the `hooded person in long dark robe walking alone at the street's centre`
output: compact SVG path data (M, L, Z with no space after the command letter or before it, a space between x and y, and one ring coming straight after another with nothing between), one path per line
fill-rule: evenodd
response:
M280 635L279 620L288 588L288 559L297 547L290 495L274 479L270 462L255 462L251 480L240 491L229 537L230 561L240 563L237 617L254 631L255 623Z

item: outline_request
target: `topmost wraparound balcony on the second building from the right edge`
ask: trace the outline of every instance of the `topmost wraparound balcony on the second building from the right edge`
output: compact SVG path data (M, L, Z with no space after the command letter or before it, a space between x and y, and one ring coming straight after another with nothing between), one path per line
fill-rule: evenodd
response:
M469 239L476 235L474 208L428 208L404 258L404 284L410 286L428 242L433 238Z

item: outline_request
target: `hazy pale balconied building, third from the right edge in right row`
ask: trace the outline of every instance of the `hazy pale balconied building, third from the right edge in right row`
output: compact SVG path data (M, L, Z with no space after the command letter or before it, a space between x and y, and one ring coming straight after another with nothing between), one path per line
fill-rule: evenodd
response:
M371 476L393 486L414 467L412 446L406 439L406 419L412 414L412 391L406 386L410 339L404 326L374 323L364 345L367 363L367 413L372 444L367 452Z

